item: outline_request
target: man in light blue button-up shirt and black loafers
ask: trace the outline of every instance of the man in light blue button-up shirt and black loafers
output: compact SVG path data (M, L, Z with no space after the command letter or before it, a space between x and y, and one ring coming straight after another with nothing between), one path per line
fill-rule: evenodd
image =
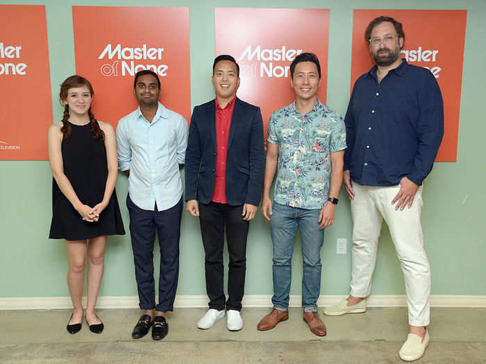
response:
M126 204L135 261L140 309L145 311L133 329L141 338L153 325L152 338L168 331L167 311L176 297L183 185L179 168L185 160L187 121L158 102L160 80L152 71L135 75L134 112L120 119L117 151L120 171L128 176ZM158 304L153 279L153 242L159 236L160 279Z

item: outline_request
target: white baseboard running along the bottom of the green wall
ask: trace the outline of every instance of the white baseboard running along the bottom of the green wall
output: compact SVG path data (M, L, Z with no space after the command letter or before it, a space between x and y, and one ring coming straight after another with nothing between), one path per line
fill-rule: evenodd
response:
M337 304L344 295L321 295L317 304L329 306ZM86 297L83 297L83 305ZM271 295L246 295L244 307L271 307ZM291 307L301 306L301 296L291 295ZM207 307L206 295L177 296L174 306L177 308ZM371 295L367 299L368 307L403 307L407 306L405 295ZM483 307L486 308L485 295L432 295L432 307ZM70 297L3 297L0 298L0 310L58 310L71 309ZM101 296L98 298L99 309L137 309L137 296Z

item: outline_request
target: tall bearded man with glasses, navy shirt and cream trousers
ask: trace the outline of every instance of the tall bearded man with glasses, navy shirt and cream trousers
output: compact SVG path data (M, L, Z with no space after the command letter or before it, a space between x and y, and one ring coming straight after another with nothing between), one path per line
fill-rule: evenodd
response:
M424 179L444 135L444 105L433 74L400 58L403 26L391 17L371 21L364 33L376 66L353 87L346 112L343 182L351 198L351 294L326 315L366 311L378 237L387 222L405 277L408 338L400 358L414 361L428 345L430 266L420 213Z

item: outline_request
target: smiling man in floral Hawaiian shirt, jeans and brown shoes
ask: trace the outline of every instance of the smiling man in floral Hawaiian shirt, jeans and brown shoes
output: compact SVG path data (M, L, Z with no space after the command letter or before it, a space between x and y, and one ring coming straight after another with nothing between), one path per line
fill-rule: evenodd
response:
M342 183L346 131L342 117L317 98L321 67L313 53L302 53L290 64L295 101L271 114L267 136L267 164L262 214L271 223L274 245L274 309L258 323L273 329L289 318L292 252L301 231L303 319L317 336L326 325L317 315L321 291L321 247L324 228L334 222ZM274 204L270 187L277 179Z

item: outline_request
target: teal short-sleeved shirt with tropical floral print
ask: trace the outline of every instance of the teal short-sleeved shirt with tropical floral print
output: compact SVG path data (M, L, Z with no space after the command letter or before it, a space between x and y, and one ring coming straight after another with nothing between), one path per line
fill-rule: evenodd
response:
M321 209L330 187L329 155L346 148L346 128L340 114L318 100L303 115L294 101L271 114L267 141L278 144L275 202Z

